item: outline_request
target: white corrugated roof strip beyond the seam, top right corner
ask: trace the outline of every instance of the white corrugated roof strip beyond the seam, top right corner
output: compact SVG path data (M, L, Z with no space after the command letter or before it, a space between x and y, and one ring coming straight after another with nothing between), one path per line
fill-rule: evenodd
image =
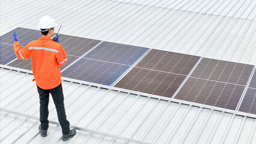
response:
M115 0L117 2L126 2L130 4L148 5L152 7L170 8L175 10L193 11L195 13L213 14L217 16L237 17L242 19L255 20L255 1L239 1L239 0L140 0L140 1L126 1Z

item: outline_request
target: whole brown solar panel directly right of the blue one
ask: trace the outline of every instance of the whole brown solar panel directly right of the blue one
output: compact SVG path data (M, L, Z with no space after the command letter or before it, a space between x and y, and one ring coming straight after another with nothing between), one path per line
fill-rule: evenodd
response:
M152 49L115 87L172 97L199 59Z

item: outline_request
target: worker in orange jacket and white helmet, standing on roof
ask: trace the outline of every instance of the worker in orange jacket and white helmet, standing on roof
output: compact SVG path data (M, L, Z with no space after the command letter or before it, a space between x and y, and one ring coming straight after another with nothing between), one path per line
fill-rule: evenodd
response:
M32 72L34 74L33 81L35 80L40 98L41 124L38 129L41 136L47 136L47 129L49 127L48 104L50 93L56 107L59 124L61 125L62 140L66 141L76 135L76 130L70 130L70 123L67 121L65 112L59 66L66 64L67 55L61 44L59 44L58 37L56 42L51 40L55 26L57 24L53 17L41 17L38 28L41 29L42 37L39 40L31 41L24 49L20 46L16 32L14 31L14 52L18 59L26 60L31 58Z

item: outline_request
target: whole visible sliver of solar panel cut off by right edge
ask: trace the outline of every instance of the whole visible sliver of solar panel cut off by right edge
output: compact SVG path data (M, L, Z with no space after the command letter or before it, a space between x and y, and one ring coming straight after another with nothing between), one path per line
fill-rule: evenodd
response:
M256 115L256 71L254 71L254 75L243 97L239 111Z

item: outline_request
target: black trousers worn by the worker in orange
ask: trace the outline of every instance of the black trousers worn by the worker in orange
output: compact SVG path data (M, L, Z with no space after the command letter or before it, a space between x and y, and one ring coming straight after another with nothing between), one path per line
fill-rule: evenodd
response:
M67 116L66 116L66 112L65 112L64 95L62 92L62 85L60 84L59 86L57 86L56 88L53 88L53 89L41 89L37 86L37 91L38 91L39 98L40 98L41 129L47 130L47 128L49 127L48 104L49 104L49 94L51 94L54 104L55 104L55 107L56 107L59 124L61 124L62 134L69 133L70 124L69 124L69 121L67 121Z

